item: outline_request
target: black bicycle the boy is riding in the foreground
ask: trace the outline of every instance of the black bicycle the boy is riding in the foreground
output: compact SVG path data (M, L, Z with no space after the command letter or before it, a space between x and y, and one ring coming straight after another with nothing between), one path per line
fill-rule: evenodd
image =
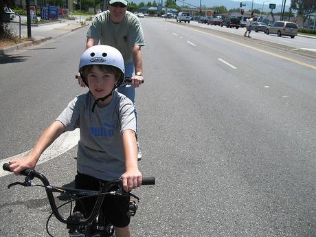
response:
M3 164L3 170L11 172L8 163ZM135 194L132 194L131 192L124 191L121 179L109 181L102 187L100 191L92 191L92 190L80 190L76 188L52 186L49 184L49 181L45 177L45 175L40 172L37 172L36 170L26 169L26 170L21 171L20 174L25 176L24 182L10 183L8 185L8 188L11 188L14 185L22 185L24 187L45 188L49 205L52 208L52 214L50 214L50 216L47 218L47 223L46 223L46 232L47 234L49 234L49 236L52 236L52 234L49 233L48 223L49 223L50 218L52 218L53 214L57 218L58 221L60 221L61 223L65 223L67 225L67 229L69 229L69 237L88 237L87 236L88 229L89 227L92 227L92 224L94 221L96 221L96 223L93 224L93 228L95 231L97 231L100 234L100 237L113 236L114 234L113 225L111 225L109 221L103 218L104 215L102 214L101 207L104 200L104 196L105 195L132 196L133 198L137 199L137 202L139 202L138 196L136 196ZM41 180L43 185L35 184L33 181L34 178ZM142 185L155 185L155 177L143 177ZM111 192L108 192L110 188L114 188L114 187L117 187L117 188L115 188L115 190ZM54 192L67 195L70 201L67 201L66 203L63 203L62 205L57 207L55 198L53 195ZM78 201L78 200L91 197L91 196L98 196L98 199L95 202L93 211L91 212L89 217L84 218L83 214L79 212L74 212L74 213L72 212L72 203L74 201ZM60 209L60 207L63 207L64 205L67 205L68 203L71 204L71 210L70 210L69 216L65 218L64 216L60 214L58 209ZM135 216L136 211L137 211L137 203L135 201L131 201L130 207L128 210L128 215Z

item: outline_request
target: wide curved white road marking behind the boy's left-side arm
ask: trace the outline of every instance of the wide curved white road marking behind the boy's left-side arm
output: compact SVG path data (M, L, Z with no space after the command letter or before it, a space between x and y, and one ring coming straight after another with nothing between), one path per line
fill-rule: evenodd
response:
M41 158L38 160L37 164L44 163L46 161L49 161L49 159L54 159L55 157L58 157L59 155L62 155L63 153L67 152L67 150L70 150L78 144L79 137L79 129L76 129L72 132L63 133L62 135L60 135L60 137L58 137L58 139L55 140L55 142L52 143L52 145L50 145L45 150L45 152L41 155ZM8 163L11 159L24 157L25 155L27 155L27 153L30 153L30 151L31 150L27 150L19 155L14 155L13 157L2 159L0 161L0 177L12 174L11 172L7 172L2 169L3 163Z

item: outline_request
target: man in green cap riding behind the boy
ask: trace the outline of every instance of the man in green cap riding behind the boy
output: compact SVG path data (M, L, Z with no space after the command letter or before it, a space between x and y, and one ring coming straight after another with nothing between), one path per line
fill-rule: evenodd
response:
M143 82L143 56L141 48L145 45L142 25L135 14L126 11L127 0L110 0L109 10L96 15L87 32L87 45L111 45L118 49L125 66L125 77L131 77L130 85L122 85L117 91L126 95L135 104L135 88ZM80 76L78 83L84 87ZM137 111L135 110L137 116ZM142 158L142 152L138 148L138 159Z

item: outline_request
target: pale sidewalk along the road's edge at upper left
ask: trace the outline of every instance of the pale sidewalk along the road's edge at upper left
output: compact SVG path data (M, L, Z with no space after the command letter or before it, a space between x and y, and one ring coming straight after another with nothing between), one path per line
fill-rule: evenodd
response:
M18 23L17 23L18 24ZM88 25L81 25L79 20L63 20L58 23L47 23L43 25L32 26L31 34L33 41L27 41L25 43L20 43L18 45L13 45L10 47L0 48L0 55L5 55L8 52L12 52L17 49L21 49L26 46L30 46L32 44L41 43L43 41L47 41L52 38L57 38L59 36L63 36L69 32L77 30L81 27L86 27ZM19 27L19 26L18 26ZM27 27L25 25L21 26L21 37L27 37ZM19 35L19 32L17 32Z

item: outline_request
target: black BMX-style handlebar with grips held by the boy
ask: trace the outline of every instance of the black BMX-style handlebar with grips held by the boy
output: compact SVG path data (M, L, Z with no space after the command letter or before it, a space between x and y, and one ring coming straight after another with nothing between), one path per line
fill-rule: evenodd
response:
M3 170L12 172L10 170L9 163L3 164ZM54 216L56 216L58 221L60 221L62 223L69 224L69 225L91 225L91 223L98 216L98 213L100 211L101 205L102 205L103 200L104 200L104 196L106 194L108 194L108 195L121 195L121 196L131 195L129 192L125 192L123 190L121 179L109 181L108 183L106 183L106 185L104 185L104 187L100 191L91 191L91 190L79 190L76 188L61 188L61 187L51 186L49 184L48 179L45 177L44 174L41 174L40 172L37 172L36 170L32 170L32 169L22 170L20 172L20 174L25 176L24 183L15 182L15 183L8 185L8 188L12 187L13 185L17 185L17 184L23 185L23 186L34 186L34 183L32 182L32 180L34 178L41 180L44 187L45 187L47 198L49 200L49 205L52 207L52 212L53 212ZM144 177L142 179L142 185L155 185L155 177ZM118 186L119 189L116 192L108 192L109 188L111 188L113 186ZM86 195L86 196L87 195L93 195L93 196L98 195L98 199L95 203L95 206L93 208L91 215L88 218L84 218L84 219L80 219L80 220L73 220L73 219L69 220L68 218L61 216L60 213L58 212L58 207L56 207L53 192L70 193L70 194L78 194L78 195ZM131 196L133 196L133 195L131 195Z

